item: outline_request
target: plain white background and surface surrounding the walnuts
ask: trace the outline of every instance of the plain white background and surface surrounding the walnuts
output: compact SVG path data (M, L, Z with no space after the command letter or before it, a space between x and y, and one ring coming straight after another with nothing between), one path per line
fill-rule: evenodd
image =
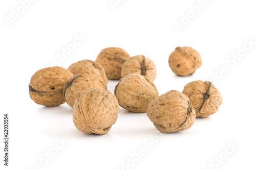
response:
M254 2L205 0L194 16L190 6L199 0L114 2L119 4L113 10L109 0L38 0L9 27L5 19L21 4L0 2L1 138L3 114L10 118L9 167L3 165L1 142L1 169L255 169L256 44L243 50L246 40L256 42ZM183 20L178 31L175 23L182 23L187 13L190 19ZM59 51L80 34L87 38L59 58ZM223 95L220 110L196 118L186 131L163 134L146 113L120 108L108 134L87 135L75 128L67 104L48 108L30 99L28 84L35 71L95 60L110 46L152 59L159 94L182 91L191 81L211 80ZM177 46L191 46L201 54L203 64L193 76L177 77L170 70L168 57ZM229 57L238 52L242 57ZM117 83L109 81L109 90ZM68 143L61 147L58 139ZM61 149L54 153L56 144ZM139 150L143 155L138 156ZM52 159L45 157L47 152L54 154Z

